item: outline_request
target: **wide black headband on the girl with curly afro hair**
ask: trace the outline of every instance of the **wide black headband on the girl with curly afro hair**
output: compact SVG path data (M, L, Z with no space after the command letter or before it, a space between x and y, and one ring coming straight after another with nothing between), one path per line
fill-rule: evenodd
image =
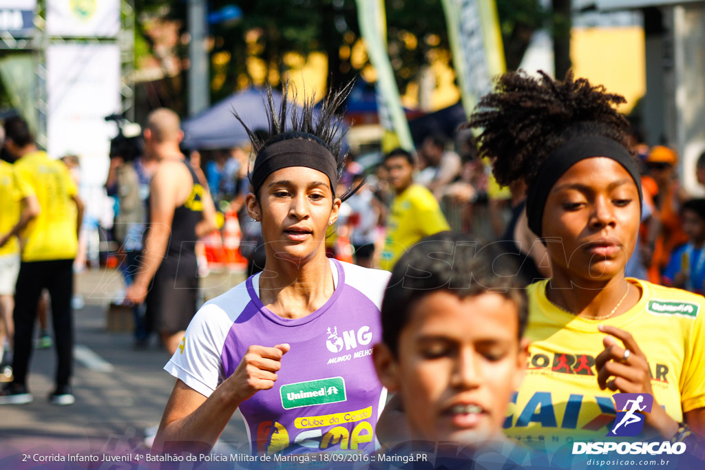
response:
M639 204L642 200L642 183L637 162L622 144L601 135L584 135L568 140L558 147L548 159L541 163L536 178L527 190L527 218L529 228L541 237L541 223L544 219L544 207L551 188L558 178L568 171L575 163L591 159L595 156L604 156L613 159L630 174L639 190Z

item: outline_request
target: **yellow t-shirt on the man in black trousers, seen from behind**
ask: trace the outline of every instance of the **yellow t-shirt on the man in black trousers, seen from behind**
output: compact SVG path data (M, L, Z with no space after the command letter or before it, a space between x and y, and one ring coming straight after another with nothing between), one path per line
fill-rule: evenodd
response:
M44 151L35 151L16 161L14 167L21 197L37 197L42 208L20 234L22 261L75 258L77 213L72 197L78 188L66 165L50 160Z

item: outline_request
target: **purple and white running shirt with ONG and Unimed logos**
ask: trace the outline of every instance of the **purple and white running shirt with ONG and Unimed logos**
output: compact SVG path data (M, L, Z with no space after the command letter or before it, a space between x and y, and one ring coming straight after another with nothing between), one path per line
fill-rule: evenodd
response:
M336 288L301 319L283 319L259 299L259 275L210 300L192 319L164 369L209 397L250 345L291 345L271 390L240 404L252 453L373 452L386 390L372 363L390 273L330 260ZM337 275L337 276L336 276ZM337 279L335 279L337 278Z

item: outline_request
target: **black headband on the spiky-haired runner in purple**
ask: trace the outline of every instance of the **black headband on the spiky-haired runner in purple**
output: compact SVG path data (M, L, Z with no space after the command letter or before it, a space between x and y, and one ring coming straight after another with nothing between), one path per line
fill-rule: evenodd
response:
M267 176L281 168L305 166L325 173L331 182L331 191L336 194L338 164L336 157L318 142L306 139L288 139L270 144L257 154L252 169L252 187L255 194Z

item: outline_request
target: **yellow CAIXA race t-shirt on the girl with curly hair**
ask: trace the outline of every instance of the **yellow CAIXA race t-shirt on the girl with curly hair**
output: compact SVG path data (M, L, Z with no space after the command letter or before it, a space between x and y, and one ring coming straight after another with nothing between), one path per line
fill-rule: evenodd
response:
M568 314L546 298L546 283L528 287L529 364L508 407L505 433L520 443L553 452L572 441L608 438L615 405L611 390L600 390L594 359L603 350L601 323L631 333L646 354L656 402L677 422L683 413L705 407L705 298L628 279L639 287L639 302L604 321ZM617 340L621 345L620 340ZM656 405L654 405L656 406ZM570 445L570 444L569 444Z

